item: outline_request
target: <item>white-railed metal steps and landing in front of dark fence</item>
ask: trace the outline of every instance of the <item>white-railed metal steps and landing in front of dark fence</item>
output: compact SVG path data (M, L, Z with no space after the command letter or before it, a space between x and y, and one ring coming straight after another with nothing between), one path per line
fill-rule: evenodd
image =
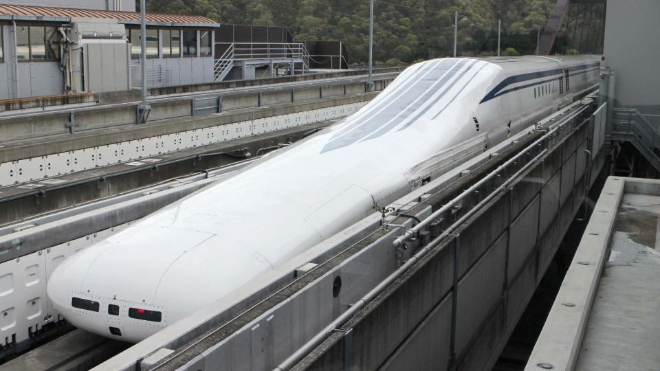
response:
M300 65L300 73L309 71L309 52L303 43L216 43L227 49L214 60L213 79L215 82L224 80L237 62L252 63L287 63L289 73L296 73L296 65Z

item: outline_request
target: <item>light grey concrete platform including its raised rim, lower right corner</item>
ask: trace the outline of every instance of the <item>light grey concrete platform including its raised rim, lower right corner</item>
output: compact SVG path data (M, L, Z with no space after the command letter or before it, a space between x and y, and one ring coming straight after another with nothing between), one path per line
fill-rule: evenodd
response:
M609 177L525 370L657 370L660 181Z

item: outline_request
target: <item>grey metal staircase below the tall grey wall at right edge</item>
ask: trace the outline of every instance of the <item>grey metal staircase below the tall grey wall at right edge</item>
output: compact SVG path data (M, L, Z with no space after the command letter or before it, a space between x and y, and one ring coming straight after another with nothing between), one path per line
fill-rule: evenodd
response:
M636 109L613 109L610 140L630 142L660 172L660 128Z

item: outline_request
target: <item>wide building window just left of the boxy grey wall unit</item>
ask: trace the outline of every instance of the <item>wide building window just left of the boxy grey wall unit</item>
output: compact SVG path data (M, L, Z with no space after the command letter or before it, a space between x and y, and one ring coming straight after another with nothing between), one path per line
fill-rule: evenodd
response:
M54 62L60 59L60 32L57 27L16 27L17 58L20 61Z

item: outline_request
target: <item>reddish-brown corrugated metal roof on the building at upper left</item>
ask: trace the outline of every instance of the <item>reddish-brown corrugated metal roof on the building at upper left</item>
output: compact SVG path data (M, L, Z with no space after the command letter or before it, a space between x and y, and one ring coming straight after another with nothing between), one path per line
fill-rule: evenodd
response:
M98 18L118 19L120 21L140 21L139 12L113 12L110 10L90 10L73 8L52 8L43 6L0 5L0 15L26 17L67 17L67 18ZM210 24L214 21L205 16L188 16L179 14L147 13L147 22L155 23L200 23Z

